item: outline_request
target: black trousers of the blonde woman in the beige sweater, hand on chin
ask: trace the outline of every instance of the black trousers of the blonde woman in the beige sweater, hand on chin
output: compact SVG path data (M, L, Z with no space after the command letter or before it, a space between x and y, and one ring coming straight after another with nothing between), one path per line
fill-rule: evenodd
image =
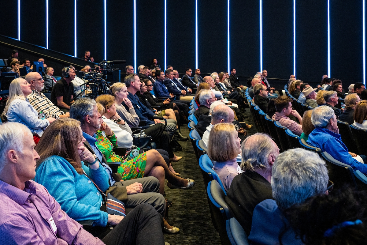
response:
M145 134L152 136L152 141L155 142L159 149L163 149L168 152L169 158L173 158L173 151L170 146L170 137L166 131L163 131L164 123L157 123L144 130ZM163 131L163 133L160 133Z

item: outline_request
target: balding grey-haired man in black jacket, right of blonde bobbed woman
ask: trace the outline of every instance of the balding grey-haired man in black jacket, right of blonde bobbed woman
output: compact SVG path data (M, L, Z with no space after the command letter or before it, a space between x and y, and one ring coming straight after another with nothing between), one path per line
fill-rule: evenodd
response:
M225 201L249 235L255 206L273 199L270 180L279 148L267 134L256 133L243 141L241 154L244 172L233 179Z

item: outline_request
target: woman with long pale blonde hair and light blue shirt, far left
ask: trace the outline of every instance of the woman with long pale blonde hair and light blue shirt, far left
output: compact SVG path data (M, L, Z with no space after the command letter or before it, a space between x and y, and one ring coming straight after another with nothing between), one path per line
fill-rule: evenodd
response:
M47 119L39 118L38 112L26 98L30 93L32 93L32 90L27 80L23 78L12 80L9 86L9 97L1 114L1 119L27 126L33 133L34 142L37 144L43 131L55 119L51 117Z

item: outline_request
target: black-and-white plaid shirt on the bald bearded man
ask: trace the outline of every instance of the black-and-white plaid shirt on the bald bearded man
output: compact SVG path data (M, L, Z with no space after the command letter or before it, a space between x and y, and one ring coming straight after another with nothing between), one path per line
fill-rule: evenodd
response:
M60 115L64 115L60 109L54 105L43 93L32 90L32 93L27 96L29 103L38 113L43 112L46 118L59 119Z

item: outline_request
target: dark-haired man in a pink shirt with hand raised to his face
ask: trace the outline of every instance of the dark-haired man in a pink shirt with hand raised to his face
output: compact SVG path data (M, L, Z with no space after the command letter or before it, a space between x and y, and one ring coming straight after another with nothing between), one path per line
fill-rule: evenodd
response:
M287 127L292 133L301 136L302 125L288 118L292 114L299 120L299 123L302 123L302 117L296 110L292 110L292 99L284 95L279 96L275 99L274 104L276 112L272 118L278 121L281 126Z

